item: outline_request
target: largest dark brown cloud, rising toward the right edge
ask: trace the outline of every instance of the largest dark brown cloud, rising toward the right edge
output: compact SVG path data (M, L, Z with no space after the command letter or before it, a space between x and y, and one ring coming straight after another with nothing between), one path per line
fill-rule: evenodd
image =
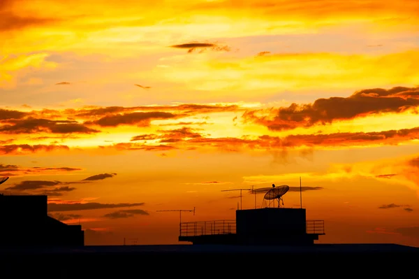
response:
M282 108L248 110L242 117L245 122L262 124L272 131L282 131L378 113L402 113L418 105L419 87L375 88L360 90L348 97L317 99L314 103L303 105L293 103Z

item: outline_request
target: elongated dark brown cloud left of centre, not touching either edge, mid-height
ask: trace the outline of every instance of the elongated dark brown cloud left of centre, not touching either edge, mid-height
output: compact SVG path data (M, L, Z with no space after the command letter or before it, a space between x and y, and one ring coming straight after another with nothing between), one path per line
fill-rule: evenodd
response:
M99 120L85 122L85 124L97 124L101 127L117 127L119 125L135 124L140 127L148 127L152 120L170 119L176 117L179 117L179 115L159 111L152 111L147 113L125 113L105 116Z

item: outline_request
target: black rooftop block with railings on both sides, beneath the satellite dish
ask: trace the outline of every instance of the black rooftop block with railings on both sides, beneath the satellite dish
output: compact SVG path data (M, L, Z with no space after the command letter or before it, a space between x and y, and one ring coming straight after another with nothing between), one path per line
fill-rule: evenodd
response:
M193 244L312 245L323 220L306 220L305 208L236 210L236 220L182 222L179 241Z

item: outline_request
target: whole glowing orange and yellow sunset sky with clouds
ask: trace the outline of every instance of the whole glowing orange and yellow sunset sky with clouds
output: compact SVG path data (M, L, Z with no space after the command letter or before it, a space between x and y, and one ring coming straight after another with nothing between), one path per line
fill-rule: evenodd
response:
M318 243L419 246L416 0L0 1L0 186L87 245L178 243L253 189ZM225 189L242 190L223 191Z

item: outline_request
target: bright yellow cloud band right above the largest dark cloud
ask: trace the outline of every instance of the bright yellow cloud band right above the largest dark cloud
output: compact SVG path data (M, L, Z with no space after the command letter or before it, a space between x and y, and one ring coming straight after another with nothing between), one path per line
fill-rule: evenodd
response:
M339 90L376 85L414 85L419 80L419 50L388 55L301 53L244 59L222 57L208 61L184 60L160 69L171 81L183 80L192 90L214 90L214 95L253 96L258 90ZM232 92L235 90L235 92ZM237 96L238 97L238 96Z

